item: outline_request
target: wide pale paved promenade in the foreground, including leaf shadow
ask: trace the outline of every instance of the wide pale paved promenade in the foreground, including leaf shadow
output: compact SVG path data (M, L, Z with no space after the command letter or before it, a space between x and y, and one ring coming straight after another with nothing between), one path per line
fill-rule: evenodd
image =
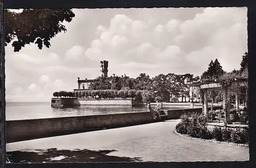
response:
M195 141L174 132L179 120L7 144L11 162L243 161L249 148Z

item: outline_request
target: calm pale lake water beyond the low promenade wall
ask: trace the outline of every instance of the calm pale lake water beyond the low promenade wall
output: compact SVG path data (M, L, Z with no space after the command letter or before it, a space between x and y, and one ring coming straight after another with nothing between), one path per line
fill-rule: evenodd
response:
M152 105L152 108L155 106ZM163 109L189 108L189 106L163 106ZM89 116L100 114L133 113L146 111L145 106L80 106L75 108L51 107L51 103L6 102L6 120L42 119L55 117Z

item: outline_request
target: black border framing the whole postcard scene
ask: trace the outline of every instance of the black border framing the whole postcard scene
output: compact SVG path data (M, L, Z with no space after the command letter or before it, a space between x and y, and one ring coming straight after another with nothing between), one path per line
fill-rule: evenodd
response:
M0 0L0 167L254 167L256 158L256 134L255 134L255 124L256 124L256 114L253 113L256 110L256 103L254 103L256 97L256 60L254 55L256 55L256 3L249 0L244 2L237 1L14 1L14 0ZM5 41L4 41L4 9L25 9L25 8L47 8L47 9L57 9L57 8L161 8L161 7L247 7L247 17L248 17L248 111L249 113L249 161L210 161L210 162L105 162L105 163L7 163L6 157L6 101L5 101ZM7 55L8 57L8 55ZM104 65L103 65L104 66ZM104 71L102 69L102 71ZM104 73L104 72L103 72ZM103 74L104 75L104 74ZM87 80L87 79L86 79ZM79 81L78 83L83 82ZM78 84L80 87L80 84ZM81 86L84 87L84 86ZM79 88L80 89L80 88ZM63 94L63 93L62 93ZM72 96L71 96L72 97ZM52 99L53 100L53 99ZM152 105L153 106L153 105ZM60 133L61 134L61 133ZM15 140L14 140L15 141ZM170 141L172 141L170 139ZM102 152L103 153L103 152Z

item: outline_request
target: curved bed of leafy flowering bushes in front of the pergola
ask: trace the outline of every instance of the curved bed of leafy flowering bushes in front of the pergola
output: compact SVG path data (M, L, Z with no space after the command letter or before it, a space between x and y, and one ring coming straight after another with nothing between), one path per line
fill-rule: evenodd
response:
M176 131L181 134L187 134L191 137L202 139L216 139L221 142L230 142L236 144L248 144L248 128L231 129L228 127L207 127L208 117L201 114L184 114L181 116L181 122L176 125Z

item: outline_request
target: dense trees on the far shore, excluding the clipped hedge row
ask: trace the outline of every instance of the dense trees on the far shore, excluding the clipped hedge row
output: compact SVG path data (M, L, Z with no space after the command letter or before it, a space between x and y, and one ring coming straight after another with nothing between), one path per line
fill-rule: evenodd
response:
M170 98L181 97L182 101L191 98L189 95L189 87L186 82L197 81L199 76L184 74L176 75L169 73L167 75L159 74L153 78L145 73L141 73L137 78L129 76L114 77L98 77L89 86L91 90L136 90L142 92L143 102L169 101ZM196 97L196 95L194 94Z

